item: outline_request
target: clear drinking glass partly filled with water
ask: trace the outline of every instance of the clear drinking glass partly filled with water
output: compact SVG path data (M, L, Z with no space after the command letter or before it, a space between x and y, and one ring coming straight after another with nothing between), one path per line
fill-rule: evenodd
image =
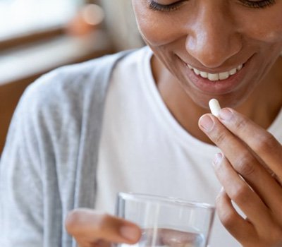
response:
M138 243L120 243L118 247L206 247L214 206L156 195L118 193L116 215L142 229Z

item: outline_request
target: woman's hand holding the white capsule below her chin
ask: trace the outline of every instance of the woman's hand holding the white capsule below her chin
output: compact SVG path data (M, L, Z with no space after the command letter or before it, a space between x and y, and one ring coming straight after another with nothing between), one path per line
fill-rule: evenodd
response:
M223 186L216 210L224 227L245 247L282 246L281 143L230 108L218 118L204 114L199 126L222 151L214 168Z

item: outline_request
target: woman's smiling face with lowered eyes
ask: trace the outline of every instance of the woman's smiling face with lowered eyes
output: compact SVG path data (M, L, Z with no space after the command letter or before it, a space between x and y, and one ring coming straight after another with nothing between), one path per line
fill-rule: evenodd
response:
M245 101L282 50L282 0L133 0L133 7L145 42L202 107L212 97L231 107Z

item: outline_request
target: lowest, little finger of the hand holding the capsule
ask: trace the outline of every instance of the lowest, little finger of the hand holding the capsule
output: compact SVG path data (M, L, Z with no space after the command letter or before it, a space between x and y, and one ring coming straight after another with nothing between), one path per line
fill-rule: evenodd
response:
M223 190L216 198L216 212L223 226L240 243L250 241L250 236L256 236L255 228L250 222L245 221L243 217L238 215L231 203L231 199Z

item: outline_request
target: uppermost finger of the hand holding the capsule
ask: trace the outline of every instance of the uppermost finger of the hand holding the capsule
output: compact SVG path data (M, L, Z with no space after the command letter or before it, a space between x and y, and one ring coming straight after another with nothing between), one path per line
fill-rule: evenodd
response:
M271 133L233 109L224 108L219 120L229 131L243 140L269 168L282 180L282 145ZM275 154L275 155L274 155Z

